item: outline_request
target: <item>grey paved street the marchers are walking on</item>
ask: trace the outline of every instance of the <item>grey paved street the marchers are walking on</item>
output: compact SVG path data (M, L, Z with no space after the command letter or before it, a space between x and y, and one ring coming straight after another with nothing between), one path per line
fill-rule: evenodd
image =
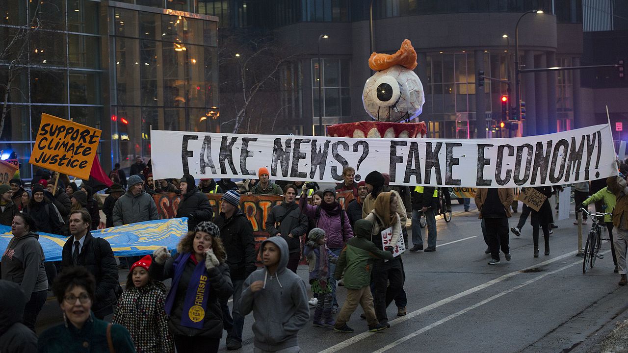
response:
M501 264L489 266L477 210L472 205L472 212L463 212L462 205L454 204L451 223L437 218L436 252L403 256L408 315L396 317L391 305L391 329L371 334L364 332L366 323L358 308L349 322L354 334L308 325L300 332L302 351L587 352L592 338L602 336L598 330L628 309L624 300L628 288L617 286L609 242L602 244L605 258L582 274L582 258L574 256L573 218L556 222L559 228L550 237L550 256L543 256L541 249L539 258L533 258L528 220L521 237L511 234L512 261L502 256ZM306 278L305 266L299 274ZM125 275L121 272L121 281ZM340 287L341 303L344 295ZM56 302L49 300L40 326L60 317ZM249 315L240 352L253 350L251 324Z

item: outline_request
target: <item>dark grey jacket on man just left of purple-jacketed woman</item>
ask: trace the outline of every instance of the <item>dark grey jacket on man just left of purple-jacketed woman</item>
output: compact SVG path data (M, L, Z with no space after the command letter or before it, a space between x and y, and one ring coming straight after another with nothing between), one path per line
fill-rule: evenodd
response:
M266 231L271 236L281 234L281 237L288 242L290 253L301 252L301 236L308 231L308 217L301 213L299 205L292 202L282 202L275 205L266 218ZM289 237L288 234L292 234Z

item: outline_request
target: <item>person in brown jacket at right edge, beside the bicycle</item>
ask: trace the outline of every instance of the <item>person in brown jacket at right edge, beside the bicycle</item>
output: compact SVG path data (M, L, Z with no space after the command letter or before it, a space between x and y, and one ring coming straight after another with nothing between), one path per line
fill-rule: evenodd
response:
M619 163L617 163L619 165ZM621 280L620 286L628 284L626 273L626 249L628 248L628 187L626 186L625 175L628 175L628 165L619 165L619 175L610 176L606 183L609 190L615 195L617 202L613 212L613 226L617 229L614 239L615 255L617 256L617 267Z

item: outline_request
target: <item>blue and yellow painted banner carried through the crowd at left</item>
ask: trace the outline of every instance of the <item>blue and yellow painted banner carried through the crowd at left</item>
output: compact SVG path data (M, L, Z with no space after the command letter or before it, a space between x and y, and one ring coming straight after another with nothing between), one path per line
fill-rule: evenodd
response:
M92 236L107 239L114 256L143 256L152 254L161 246L168 250L175 249L181 236L187 232L188 219L183 217L119 225L92 231ZM56 234L39 234L46 261L61 261L63 245L68 238ZM0 249L4 251L12 237L11 227L0 225Z

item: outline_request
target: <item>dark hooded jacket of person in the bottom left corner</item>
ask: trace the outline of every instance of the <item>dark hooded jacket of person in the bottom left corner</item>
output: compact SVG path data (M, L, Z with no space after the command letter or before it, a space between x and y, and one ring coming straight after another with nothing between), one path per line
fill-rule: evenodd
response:
M25 306L26 297L19 285L0 280L0 352L37 352L37 336L21 323Z

